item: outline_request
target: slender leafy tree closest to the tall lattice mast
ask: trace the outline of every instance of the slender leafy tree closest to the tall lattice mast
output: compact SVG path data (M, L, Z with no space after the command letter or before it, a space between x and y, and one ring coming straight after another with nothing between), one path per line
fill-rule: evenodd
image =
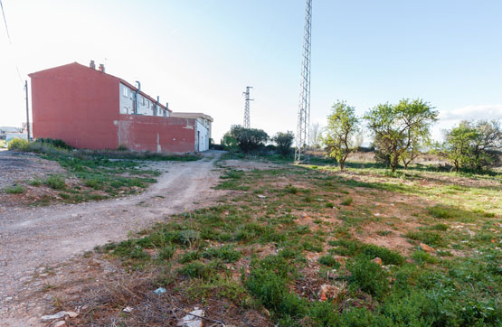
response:
M354 107L348 106L345 101L337 101L332 108L322 140L327 154L336 159L343 171L348 154L354 150L351 140L358 131L359 119L355 117Z

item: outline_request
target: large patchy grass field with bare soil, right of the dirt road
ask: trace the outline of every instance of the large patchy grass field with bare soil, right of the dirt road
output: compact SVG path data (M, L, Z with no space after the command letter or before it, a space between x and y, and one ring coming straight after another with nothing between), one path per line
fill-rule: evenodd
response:
M219 205L98 249L136 288L81 322L138 321L114 308L163 286L158 314L216 305L227 324L499 326L502 176L349 166L226 169Z

